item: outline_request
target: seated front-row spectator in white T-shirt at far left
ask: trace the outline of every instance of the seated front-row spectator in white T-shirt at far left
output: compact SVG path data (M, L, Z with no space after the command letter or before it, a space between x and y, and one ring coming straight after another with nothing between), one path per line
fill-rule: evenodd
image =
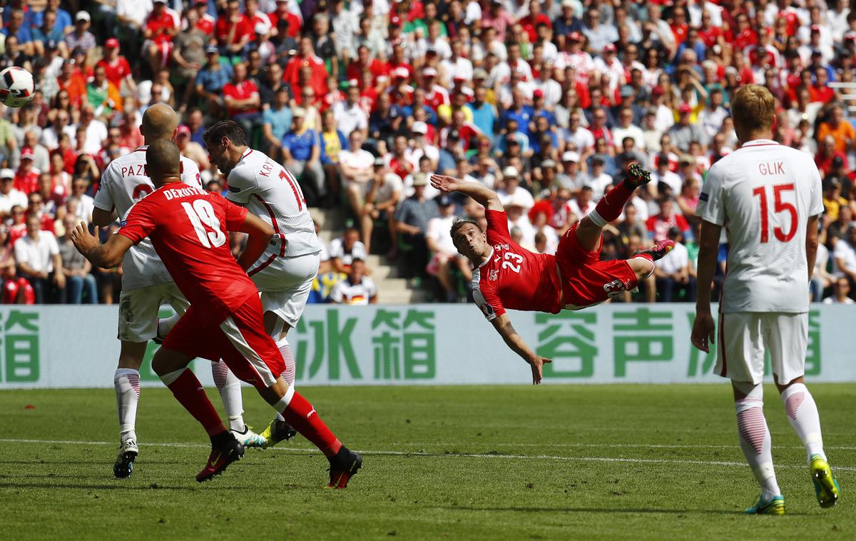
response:
M27 235L15 241L15 260L19 274L33 286L36 303L44 304L56 299L51 285L56 289L65 288L59 245L53 233L42 230L39 217L27 218Z

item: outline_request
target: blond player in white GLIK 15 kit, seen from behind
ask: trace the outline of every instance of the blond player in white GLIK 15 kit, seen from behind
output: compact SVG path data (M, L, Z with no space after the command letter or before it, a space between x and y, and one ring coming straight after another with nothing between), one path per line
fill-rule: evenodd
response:
M731 104L740 149L710 168L696 213L702 218L698 301L693 344L715 342L710 282L722 227L728 236L728 273L719 305L716 373L730 378L740 448L761 485L748 514L784 514L772 444L764 418L764 352L788 419L800 436L817 502L839 496L826 455L817 406L805 388L809 282L823 212L820 174L811 156L772 140L775 102L764 86L743 86Z

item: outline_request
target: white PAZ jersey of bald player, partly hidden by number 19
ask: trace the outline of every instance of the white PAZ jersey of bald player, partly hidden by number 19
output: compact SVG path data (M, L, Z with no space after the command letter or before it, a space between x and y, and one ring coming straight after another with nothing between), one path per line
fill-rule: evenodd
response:
M114 211L120 220L128 216L134 203L155 191L152 179L146 175L146 146L116 158L101 175L95 206L102 211ZM191 159L181 157L181 181L193 187L202 187L199 167ZM146 239L131 247L122 260L123 289L145 288L156 283L171 282L172 276L161 263L152 241Z

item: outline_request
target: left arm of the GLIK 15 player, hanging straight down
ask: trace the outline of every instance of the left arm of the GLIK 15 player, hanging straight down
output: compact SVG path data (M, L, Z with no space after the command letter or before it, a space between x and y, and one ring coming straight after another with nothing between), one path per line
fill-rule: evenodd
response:
M693 346L705 353L710 351L710 344L714 343L714 330L716 329L713 316L710 314L710 285L713 283L713 274L716 272L721 232L722 226L702 220L701 233L698 235L696 318L690 340L693 342Z

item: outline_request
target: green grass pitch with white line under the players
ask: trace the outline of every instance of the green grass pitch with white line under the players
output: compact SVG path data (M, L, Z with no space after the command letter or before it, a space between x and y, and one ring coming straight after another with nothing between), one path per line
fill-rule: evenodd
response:
M842 499L821 509L805 452L767 386L788 515L746 516L758 488L722 385L306 388L364 468L322 490L302 437L199 485L207 437L143 389L140 457L114 479L110 389L0 392L3 538L847 539L856 535L853 385L814 384ZM216 391L212 400L220 407ZM252 389L245 419L270 420Z

